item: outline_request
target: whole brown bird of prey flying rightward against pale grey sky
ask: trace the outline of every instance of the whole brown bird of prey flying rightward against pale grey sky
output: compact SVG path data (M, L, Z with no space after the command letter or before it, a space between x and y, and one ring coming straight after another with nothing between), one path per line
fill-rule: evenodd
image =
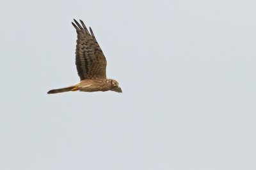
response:
M72 25L77 32L76 68L80 81L69 87L49 90L47 94L74 92L77 90L81 92L105 92L111 90L122 93L118 82L106 77L107 61L91 27L89 32L82 20L80 20L82 26L75 19L74 22L76 24L72 22Z

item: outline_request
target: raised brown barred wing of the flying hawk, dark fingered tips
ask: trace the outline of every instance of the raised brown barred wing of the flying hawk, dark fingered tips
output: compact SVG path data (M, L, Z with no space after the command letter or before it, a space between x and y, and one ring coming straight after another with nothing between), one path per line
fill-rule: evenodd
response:
M82 26L74 19L76 28L76 68L80 80L106 78L107 61L92 32L80 20Z

